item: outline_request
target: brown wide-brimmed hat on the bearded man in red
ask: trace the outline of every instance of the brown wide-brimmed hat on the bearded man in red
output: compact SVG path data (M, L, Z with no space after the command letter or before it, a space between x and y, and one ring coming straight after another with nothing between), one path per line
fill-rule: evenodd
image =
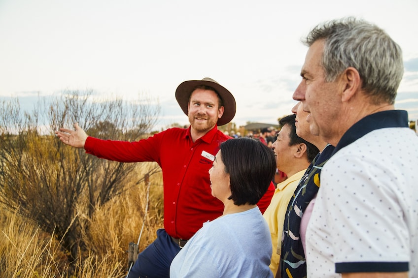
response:
M199 86L209 86L213 88L222 99L224 111L222 117L218 119L217 125L224 125L231 122L237 110L235 98L232 93L230 93L225 87L221 86L219 83L209 77L205 77L202 80L184 81L178 85L177 89L175 90L175 99L177 100L184 114L188 115L187 107L189 104L190 94Z

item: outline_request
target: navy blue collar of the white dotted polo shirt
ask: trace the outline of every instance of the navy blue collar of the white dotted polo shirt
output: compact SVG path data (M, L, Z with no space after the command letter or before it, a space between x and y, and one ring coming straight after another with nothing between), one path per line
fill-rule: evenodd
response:
M408 112L404 110L387 110L364 117L348 128L332 154L337 153L373 130L388 127L408 127Z

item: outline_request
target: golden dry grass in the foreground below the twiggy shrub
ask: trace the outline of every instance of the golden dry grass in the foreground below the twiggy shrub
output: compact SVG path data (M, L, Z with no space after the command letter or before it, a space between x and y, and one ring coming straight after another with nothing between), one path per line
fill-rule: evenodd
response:
M149 245L156 237L156 230L163 227L161 172L150 176L148 207L147 185L132 183L126 188L123 194L97 207L91 218L79 211L76 217L82 220L80 222L89 222L88 226L81 227L81 240L88 251L80 251L75 262L67 260L60 239L55 235L47 234L32 221L0 208L0 276L125 277L128 268L126 251L130 242L137 243L144 220L139 250Z

